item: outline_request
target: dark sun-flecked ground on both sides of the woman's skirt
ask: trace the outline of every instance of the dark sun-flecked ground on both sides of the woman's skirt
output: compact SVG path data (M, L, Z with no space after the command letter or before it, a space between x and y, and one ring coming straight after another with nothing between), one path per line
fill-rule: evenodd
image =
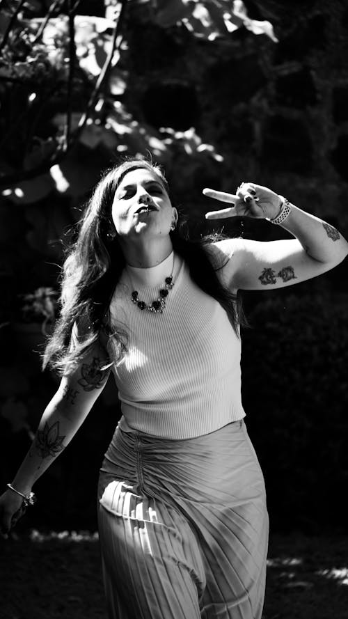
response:
M1 540L0 619L106 619L97 534ZM347 619L348 539L273 535L262 619Z

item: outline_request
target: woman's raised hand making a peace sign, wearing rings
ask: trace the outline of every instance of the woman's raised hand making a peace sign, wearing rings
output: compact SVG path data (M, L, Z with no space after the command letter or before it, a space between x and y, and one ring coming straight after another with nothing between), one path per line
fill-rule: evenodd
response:
M267 189L267 187L262 187L262 185L255 185L255 182L242 182L236 194L226 194L214 189L203 189L203 194L208 198L233 205L219 211L206 213L205 219L225 219L236 215L254 217L255 219L265 219L266 217L267 219L274 219L279 214L282 203L278 194Z

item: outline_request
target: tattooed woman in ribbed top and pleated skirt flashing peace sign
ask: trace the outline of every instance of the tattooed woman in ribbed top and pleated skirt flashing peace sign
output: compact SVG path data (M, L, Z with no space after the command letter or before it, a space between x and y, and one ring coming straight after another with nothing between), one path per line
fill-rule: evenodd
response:
M294 239L180 237L161 170L104 175L65 261L61 318L45 351L63 373L33 446L1 496L6 533L113 373L122 417L100 471L99 529L112 619L260 619L268 516L244 423L237 291L292 285L347 255L335 228L270 189L205 189Z

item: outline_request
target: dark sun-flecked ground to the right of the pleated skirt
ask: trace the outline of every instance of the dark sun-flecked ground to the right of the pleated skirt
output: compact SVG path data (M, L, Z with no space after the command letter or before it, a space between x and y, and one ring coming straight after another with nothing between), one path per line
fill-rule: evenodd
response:
M272 535L262 619L346 619L347 556L344 535Z

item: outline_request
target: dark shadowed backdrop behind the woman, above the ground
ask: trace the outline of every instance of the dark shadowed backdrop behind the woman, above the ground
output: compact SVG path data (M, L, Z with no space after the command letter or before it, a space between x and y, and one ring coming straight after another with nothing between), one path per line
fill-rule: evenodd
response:
M82 2L79 13L96 15L100 4ZM41 373L33 352L45 339L44 316L23 311L20 295L40 287L58 290L58 240L77 221L116 146L126 154L155 152L192 237L213 230L204 219L212 203L201 195L203 187L235 191L242 180L271 187L348 236L348 3L245 4L253 19L269 19L278 43L244 27L213 41L195 38L182 26L164 28L129 9L123 24L128 49L119 63L127 88L114 100L127 109L122 127L132 131L116 133L111 146L86 132L61 162L67 191L58 191L44 173L19 178L1 196L3 489L58 384ZM9 101L21 105L21 93L16 99L1 91L3 122ZM43 107L42 139L60 106L51 101ZM13 134L13 145L17 140L20 146L22 134ZM13 171L22 161L16 163L12 146L6 148ZM267 221L240 218L225 221L223 231L265 241L287 237ZM242 395L274 531L336 532L346 526L347 299L347 261L291 288L244 293L251 329L243 333ZM109 382L72 444L35 485L38 504L19 531L96 528L98 469L119 416Z

